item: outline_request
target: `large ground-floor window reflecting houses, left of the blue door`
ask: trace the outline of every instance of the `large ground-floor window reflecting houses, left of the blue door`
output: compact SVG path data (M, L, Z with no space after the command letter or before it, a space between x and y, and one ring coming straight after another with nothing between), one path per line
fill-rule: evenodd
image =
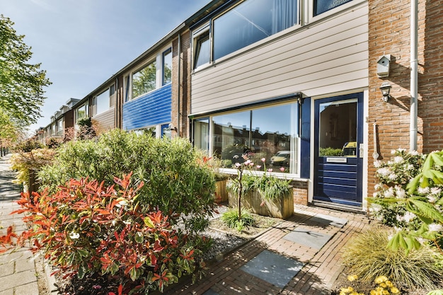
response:
M243 154L261 165L258 170L298 173L298 104L286 103L266 108L231 112L194 121L194 143L200 149L212 147L226 168L241 162ZM212 139L207 142L207 137ZM265 158L265 165L261 161Z

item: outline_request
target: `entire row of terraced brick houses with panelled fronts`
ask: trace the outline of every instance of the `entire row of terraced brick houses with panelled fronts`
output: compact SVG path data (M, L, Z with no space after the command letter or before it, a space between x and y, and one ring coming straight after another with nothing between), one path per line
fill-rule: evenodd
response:
M443 148L443 1L214 0L45 128L266 158L294 202L365 211L374 159Z

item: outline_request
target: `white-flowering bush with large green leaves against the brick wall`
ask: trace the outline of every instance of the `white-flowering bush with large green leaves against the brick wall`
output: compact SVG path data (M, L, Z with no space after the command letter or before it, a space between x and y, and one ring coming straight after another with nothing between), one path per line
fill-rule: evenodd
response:
M443 253L443 151L391 154L389 161L374 162L379 183L368 198L370 214L397 229L392 248L410 251L430 243Z

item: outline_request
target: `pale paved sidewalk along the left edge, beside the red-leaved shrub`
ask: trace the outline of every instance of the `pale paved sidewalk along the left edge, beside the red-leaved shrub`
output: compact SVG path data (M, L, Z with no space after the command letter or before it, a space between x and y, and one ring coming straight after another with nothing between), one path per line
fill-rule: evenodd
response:
M0 226L4 233L13 224L16 231L23 231L21 216L10 215L18 209L20 187L14 185L14 173L9 169L11 154L0 158ZM15 252L0 254L0 295L39 295L38 272L33 253L21 248Z

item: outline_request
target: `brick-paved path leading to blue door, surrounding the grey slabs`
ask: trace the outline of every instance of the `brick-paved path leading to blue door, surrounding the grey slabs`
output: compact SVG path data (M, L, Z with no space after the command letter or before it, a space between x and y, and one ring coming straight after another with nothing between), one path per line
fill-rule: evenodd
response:
M341 228L318 224L311 219L318 215L347 219L347 223ZM289 220L283 221L234 252L226 254L222 261L215 262L209 267L206 277L195 284L190 284L189 281L179 283L168 289L166 293L173 295L330 294L333 283L343 271L340 250L355 233L367 227L369 219L364 214L296 206L294 216ZM284 239L287 233L301 229L328 234L332 238L320 250L304 245L304 241L296 243ZM304 267L283 288L241 270L243 265L264 250L304 262Z

